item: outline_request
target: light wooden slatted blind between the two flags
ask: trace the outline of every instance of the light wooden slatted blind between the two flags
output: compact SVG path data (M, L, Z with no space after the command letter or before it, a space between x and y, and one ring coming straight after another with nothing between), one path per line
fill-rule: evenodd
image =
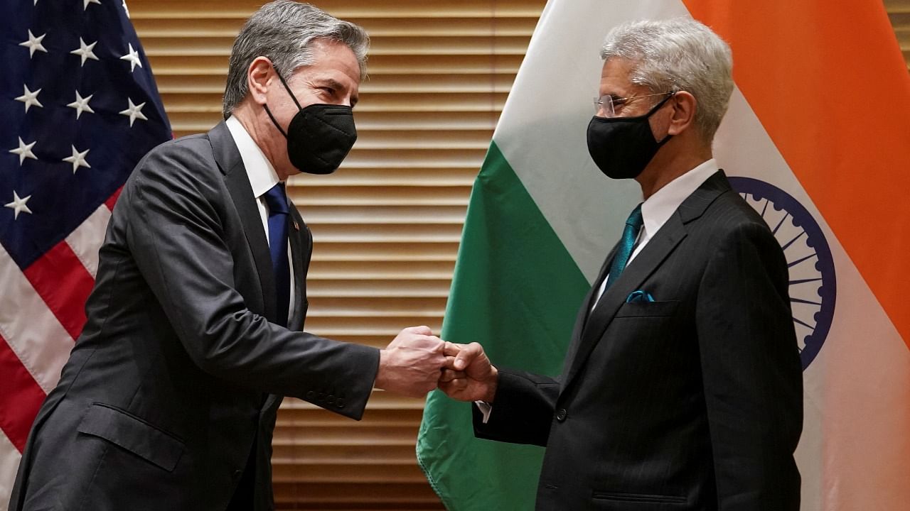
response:
M220 121L230 47L261 3L128 0L175 135ZM545 0L314 4L372 45L357 144L334 175L288 186L315 241L307 330L369 346L404 326L439 332L470 186ZM355 422L286 399L278 508L442 509L414 454L422 409L376 391Z

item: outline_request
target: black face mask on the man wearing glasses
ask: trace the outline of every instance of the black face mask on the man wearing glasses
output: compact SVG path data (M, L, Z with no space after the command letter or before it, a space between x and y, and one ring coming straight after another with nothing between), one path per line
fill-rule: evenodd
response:
M654 139L648 118L657 112L671 95L654 105L645 115L635 117L598 117L588 124L588 152L603 174L613 179L630 179L642 174L657 150L672 135L658 142Z

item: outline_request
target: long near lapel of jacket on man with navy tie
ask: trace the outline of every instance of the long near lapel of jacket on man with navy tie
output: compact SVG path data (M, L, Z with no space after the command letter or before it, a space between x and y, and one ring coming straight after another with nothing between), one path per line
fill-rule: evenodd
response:
M275 274L272 270L271 255L268 254L268 240L262 229L262 217L259 216L256 197L253 188L249 185L247 168L243 165L240 152L234 143L225 123L219 123L208 132L212 143L215 161L225 174L225 185L240 215L244 235L247 236L249 250L256 263L256 272L259 284L262 286L262 301L265 304L263 315L274 321L276 316L275 304Z

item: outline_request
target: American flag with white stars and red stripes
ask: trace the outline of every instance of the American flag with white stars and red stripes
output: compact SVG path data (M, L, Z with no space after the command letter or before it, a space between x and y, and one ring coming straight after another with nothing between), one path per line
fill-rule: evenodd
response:
M124 0L0 3L0 509L138 160L171 137Z

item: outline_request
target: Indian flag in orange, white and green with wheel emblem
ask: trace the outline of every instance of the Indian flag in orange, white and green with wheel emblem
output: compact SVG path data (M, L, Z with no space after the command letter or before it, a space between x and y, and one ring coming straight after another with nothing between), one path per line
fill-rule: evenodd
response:
M442 336L555 376L581 299L641 200L585 143L602 38L693 16L733 48L714 142L790 265L806 510L910 503L910 75L880 0L551 0L474 184ZM478 440L427 400L418 458L451 510L533 508L542 449Z

